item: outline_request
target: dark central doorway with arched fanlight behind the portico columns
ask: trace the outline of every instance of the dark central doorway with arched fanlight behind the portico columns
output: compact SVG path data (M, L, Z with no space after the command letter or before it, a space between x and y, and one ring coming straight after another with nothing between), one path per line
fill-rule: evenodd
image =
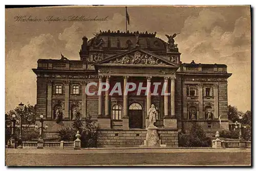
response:
M129 106L129 128L143 128L142 107L138 103Z

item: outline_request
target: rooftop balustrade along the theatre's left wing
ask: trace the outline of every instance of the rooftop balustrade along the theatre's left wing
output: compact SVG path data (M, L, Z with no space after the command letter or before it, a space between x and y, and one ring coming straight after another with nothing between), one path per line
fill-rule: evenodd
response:
M78 60L39 59L37 69L83 70L87 65Z

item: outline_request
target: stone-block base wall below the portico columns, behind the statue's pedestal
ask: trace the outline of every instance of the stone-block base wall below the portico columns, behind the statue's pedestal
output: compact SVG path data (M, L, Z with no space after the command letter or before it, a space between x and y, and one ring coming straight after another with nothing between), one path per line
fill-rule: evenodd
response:
M97 145L98 147L108 146L139 146L146 139L146 130L99 130ZM162 144L167 146L178 146L178 130L158 131L159 139Z

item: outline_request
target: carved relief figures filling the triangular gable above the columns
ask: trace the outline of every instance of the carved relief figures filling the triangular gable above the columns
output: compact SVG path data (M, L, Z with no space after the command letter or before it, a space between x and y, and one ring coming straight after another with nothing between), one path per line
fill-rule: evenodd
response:
M109 63L131 65L166 65L158 58L149 56L147 54L141 54L140 52L135 52L134 54L127 54L124 57L116 58Z

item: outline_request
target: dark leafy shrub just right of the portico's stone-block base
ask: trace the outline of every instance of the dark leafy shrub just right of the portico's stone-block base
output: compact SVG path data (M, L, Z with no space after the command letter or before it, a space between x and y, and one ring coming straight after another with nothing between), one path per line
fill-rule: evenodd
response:
M197 123L191 126L189 134L179 133L179 146L206 147L210 144L210 137L206 137L204 130Z

